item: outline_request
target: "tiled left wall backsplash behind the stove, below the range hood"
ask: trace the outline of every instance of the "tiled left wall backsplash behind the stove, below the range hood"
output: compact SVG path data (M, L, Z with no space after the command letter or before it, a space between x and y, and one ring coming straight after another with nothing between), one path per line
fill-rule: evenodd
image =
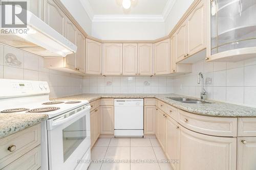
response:
M11 58L7 60L6 56L16 57L17 62L10 62ZM82 77L44 68L43 58L2 44L0 78L47 81L50 85L51 98L82 93Z

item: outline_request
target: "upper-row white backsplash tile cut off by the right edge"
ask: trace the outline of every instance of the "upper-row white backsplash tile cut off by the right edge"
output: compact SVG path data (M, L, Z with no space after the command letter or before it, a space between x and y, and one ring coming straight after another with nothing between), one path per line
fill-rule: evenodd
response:
M256 86L256 65L244 67L244 86Z

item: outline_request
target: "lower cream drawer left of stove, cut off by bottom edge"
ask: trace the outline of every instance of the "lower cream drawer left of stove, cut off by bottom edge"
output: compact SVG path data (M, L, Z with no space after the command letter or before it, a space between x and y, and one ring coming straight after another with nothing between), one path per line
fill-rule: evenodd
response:
M3 170L36 170L41 166L41 146L34 148L27 154L10 163Z

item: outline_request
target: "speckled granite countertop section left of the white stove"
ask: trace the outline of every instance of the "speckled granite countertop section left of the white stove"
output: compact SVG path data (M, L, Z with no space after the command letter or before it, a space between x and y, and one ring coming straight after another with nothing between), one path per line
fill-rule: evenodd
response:
M0 138L37 125L48 118L47 114L0 114Z

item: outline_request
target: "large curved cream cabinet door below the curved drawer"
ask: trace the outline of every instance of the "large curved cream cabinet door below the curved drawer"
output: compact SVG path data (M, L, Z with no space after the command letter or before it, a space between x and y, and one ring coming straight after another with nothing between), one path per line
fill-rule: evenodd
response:
M208 136L180 126L180 170L236 170L237 140Z

